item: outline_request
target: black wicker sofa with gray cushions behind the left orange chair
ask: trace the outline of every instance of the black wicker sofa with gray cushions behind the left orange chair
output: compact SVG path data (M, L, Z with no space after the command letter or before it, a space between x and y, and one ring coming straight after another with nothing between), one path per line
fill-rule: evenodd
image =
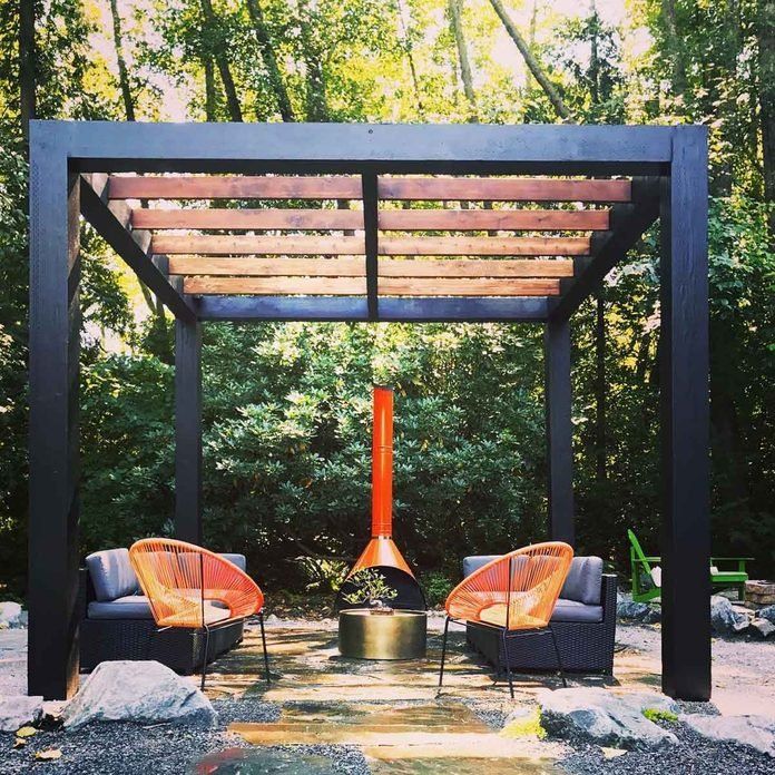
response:
M244 555L223 555L245 570ZM222 607L212 600L207 605ZM155 659L173 670L190 675L202 667L205 638L185 629L157 631L148 599L139 588L128 549L89 555L80 572L80 669L92 670L101 661ZM243 638L243 621L210 634L207 661Z

